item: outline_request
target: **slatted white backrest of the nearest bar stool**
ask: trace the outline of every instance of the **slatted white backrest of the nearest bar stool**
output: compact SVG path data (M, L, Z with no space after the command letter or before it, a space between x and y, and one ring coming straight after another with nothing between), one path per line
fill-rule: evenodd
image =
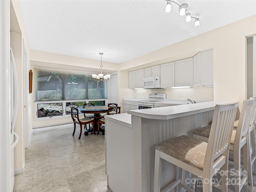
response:
M206 157L208 158L204 159L204 168L213 168L214 161L220 156L220 158L228 159L237 107L238 102L215 106L206 149Z

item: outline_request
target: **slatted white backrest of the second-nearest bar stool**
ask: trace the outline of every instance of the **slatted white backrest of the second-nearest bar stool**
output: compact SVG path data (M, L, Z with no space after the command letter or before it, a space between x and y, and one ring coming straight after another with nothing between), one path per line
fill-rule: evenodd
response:
M234 141L237 144L241 142L242 137L245 136L248 132L248 129L252 120L252 113L253 113L252 110L255 110L253 108L254 103L255 103L254 99L243 101L243 106L242 106L241 114L239 117L238 126L236 128L236 136Z

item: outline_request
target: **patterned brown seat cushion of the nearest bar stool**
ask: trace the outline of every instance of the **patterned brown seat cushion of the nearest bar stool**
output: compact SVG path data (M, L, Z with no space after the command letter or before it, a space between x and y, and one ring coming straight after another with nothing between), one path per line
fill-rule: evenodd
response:
M182 135L155 147L180 161L203 170L207 143Z

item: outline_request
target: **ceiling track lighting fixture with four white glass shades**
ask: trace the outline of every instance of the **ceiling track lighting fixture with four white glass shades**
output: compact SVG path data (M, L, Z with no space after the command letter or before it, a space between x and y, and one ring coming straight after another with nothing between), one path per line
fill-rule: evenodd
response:
M184 3L184 4L180 5L180 4L178 4L178 3L176 3L175 1L172 1L172 0L164 0L164 1L167 2L165 12L167 12L167 13L171 12L171 7L172 7L171 2L172 2L172 3L179 6L179 12L180 12L181 16L186 14L186 22L190 22L191 18L194 18L195 19L195 26L200 25L199 18L193 17L193 16L191 16L191 14L189 12L186 12L188 10L188 4Z

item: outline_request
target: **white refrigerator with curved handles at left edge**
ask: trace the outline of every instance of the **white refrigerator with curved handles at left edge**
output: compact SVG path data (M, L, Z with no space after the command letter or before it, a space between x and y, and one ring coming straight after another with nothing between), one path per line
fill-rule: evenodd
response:
M11 103L10 103L10 108L11 108L11 137L10 137L10 154L11 154L11 159L10 159L10 167L11 167L11 172L10 172L10 182L11 182L11 191L13 191L14 188L14 147L18 143L19 136L17 133L14 132L14 125L16 121L16 116L17 116L17 110L18 110L18 76L17 76L17 70L16 70L16 64L14 60L14 55L12 52L12 48L10 48L10 92L11 92ZM14 139L15 137L15 139Z

